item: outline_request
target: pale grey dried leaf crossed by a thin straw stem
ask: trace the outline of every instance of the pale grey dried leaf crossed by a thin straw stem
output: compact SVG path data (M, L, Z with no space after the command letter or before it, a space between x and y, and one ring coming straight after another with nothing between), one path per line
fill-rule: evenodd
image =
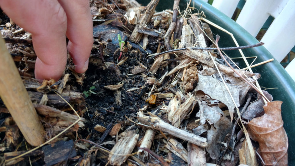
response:
M227 85L227 87L230 89L232 97L234 98L236 105L239 107L240 106L239 89L231 85ZM230 94L227 92L227 89L225 88L225 85L223 84L223 82L220 82L211 76L202 76L199 74L199 83L197 87L195 88L195 91L198 91L198 90L203 91L204 93L209 95L212 99L216 99L224 103L229 109L230 118L232 120L235 104L232 102Z

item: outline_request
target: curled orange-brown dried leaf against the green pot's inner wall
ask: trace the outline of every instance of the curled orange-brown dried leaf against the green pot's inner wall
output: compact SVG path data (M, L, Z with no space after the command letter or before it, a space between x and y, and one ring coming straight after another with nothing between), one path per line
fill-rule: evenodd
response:
M259 151L266 165L288 164L288 137L283 128L281 101L263 106L265 114L248 123L250 137L258 141Z

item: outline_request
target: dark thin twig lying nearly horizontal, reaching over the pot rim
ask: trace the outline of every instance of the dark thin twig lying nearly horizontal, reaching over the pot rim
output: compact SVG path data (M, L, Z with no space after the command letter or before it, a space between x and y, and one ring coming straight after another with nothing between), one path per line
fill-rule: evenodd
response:
M224 47L224 48L219 48L219 49L220 50L240 50L240 49L245 49L245 48L258 47L258 46L261 46L263 44L264 44L263 42L260 42L260 43L256 43L256 44L252 44L252 45L244 45L244 46L240 46L240 47ZM150 63L153 60L153 58L155 58L155 57L157 57L159 55L163 55L163 54L166 54L166 53L172 53L172 52L180 52L180 51L184 51L184 50L187 50L187 49L192 49L192 50L208 50L208 51L217 50L217 48L211 48L211 47L186 47L186 48L179 48L179 49L174 49L174 50L168 50L168 51L164 51L162 53L158 53L158 54L152 56L148 60L148 63Z

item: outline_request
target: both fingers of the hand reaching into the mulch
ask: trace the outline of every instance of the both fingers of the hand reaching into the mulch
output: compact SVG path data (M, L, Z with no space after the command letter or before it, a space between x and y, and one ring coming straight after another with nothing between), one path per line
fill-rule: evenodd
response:
M58 80L67 61L67 50L75 71L88 68L93 45L93 26L88 0L0 0L1 9L32 34L37 60L35 77ZM66 38L69 39L68 46Z

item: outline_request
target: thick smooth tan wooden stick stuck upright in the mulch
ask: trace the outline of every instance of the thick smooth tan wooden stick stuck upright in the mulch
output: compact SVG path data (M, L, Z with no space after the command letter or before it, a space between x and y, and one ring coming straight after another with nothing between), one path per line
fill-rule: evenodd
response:
M32 146L41 145L45 141L44 128L2 37L0 96L27 142Z

